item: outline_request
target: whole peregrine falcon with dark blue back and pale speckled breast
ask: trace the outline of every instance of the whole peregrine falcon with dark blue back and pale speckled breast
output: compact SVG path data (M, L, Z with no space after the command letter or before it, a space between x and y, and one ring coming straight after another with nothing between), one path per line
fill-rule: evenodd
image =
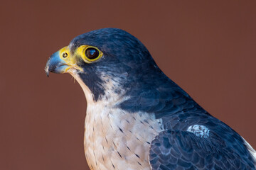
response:
M84 91L90 169L255 169L255 149L166 77L124 30L78 35L48 59L49 72L71 74Z

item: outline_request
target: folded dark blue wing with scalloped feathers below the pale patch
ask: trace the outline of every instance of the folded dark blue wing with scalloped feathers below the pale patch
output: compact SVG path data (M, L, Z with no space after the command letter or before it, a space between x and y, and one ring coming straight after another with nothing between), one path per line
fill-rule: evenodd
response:
M151 169L255 169L248 154L238 154L218 135L165 130L151 142Z

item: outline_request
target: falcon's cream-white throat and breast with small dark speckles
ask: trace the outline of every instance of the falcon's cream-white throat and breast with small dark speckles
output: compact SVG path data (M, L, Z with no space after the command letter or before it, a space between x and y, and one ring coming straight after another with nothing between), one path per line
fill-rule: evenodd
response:
M116 84L105 84L107 97L94 102L90 89L74 72L87 99L85 157L90 169L151 169L149 147L161 131L161 120L153 114L127 113L117 108L120 95L113 96Z

